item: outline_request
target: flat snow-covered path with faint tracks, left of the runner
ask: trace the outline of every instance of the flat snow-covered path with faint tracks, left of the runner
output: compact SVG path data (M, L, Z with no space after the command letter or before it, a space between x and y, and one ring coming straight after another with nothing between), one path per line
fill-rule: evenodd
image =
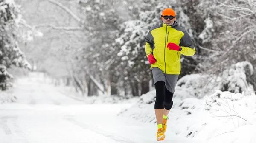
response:
M131 104L69 98L32 73L16 82L17 103L0 104L0 143L157 143L156 126L117 116ZM199 143L166 132L165 143Z

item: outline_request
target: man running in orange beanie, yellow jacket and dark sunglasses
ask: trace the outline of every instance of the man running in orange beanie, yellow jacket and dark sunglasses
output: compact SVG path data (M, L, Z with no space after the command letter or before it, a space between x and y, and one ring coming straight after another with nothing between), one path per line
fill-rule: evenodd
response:
M157 140L164 140L167 116L172 108L173 94L180 75L180 55L193 56L195 47L189 34L175 21L175 11L162 11L162 22L145 36L145 51L156 89L154 104L157 118Z

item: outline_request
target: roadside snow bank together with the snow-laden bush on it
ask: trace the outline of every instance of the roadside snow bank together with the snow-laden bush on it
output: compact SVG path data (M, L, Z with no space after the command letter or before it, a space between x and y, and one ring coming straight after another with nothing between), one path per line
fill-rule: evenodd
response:
M256 95L246 81L246 75L252 73L249 62L239 62L218 76L182 77L177 82L167 132L205 143L256 143ZM155 90L142 95L118 115L156 124L155 95Z

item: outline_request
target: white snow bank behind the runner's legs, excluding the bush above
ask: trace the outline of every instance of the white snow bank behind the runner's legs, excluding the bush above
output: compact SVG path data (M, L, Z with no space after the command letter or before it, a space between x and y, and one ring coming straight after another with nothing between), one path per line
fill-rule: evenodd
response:
M181 90L181 89L179 89ZM186 89L184 89L186 90ZM155 91L148 92L120 116L156 124ZM202 99L177 92L169 113L168 131L184 137L196 137L209 143L253 143L256 133L256 95L217 90ZM247 141L247 142L246 142Z

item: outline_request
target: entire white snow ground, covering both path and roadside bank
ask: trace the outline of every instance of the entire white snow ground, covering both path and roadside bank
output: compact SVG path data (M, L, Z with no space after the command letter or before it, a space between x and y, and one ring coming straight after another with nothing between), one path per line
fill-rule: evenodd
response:
M199 99L187 90L199 77L180 79L163 142L255 143L255 93L215 90ZM49 81L29 73L1 92L17 99L0 104L0 143L157 143L154 89L116 104L93 97L91 104Z

